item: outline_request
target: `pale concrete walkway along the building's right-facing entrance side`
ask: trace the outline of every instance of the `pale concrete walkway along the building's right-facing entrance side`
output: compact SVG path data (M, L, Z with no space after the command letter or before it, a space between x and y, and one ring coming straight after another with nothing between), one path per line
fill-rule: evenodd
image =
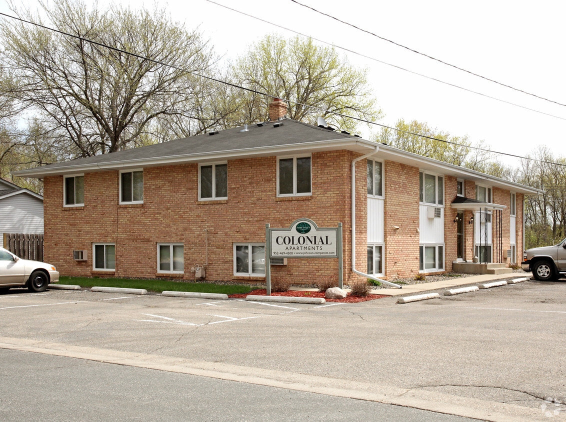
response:
M371 291L371 294L385 295L385 296L401 296L410 295L415 293L427 292L430 290L437 290L439 288L453 288L459 286L473 285L476 283L488 283L490 281L503 280L505 278L520 278L531 277L531 273L507 273L507 274L479 274L471 275L471 277L454 277L442 281L431 281L430 283L417 283L414 285L402 285L402 288L388 287L376 288ZM395 280L392 280L395 283ZM316 288L291 288L290 290L306 290L318 291ZM346 289L346 291L349 291Z

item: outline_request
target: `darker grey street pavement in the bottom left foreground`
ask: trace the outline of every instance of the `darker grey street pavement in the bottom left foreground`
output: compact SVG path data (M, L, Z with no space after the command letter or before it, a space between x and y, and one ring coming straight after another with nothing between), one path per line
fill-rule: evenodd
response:
M0 420L473 421L391 404L30 352L0 350L0 360Z

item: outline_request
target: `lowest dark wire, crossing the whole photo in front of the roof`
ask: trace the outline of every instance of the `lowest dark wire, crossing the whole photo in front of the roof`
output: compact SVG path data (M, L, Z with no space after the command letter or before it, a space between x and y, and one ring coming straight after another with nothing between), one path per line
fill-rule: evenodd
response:
M207 1L209 1L209 0L207 0ZM136 57L136 58L139 58L139 59L143 59L143 60L145 60L145 61L149 61L149 62L152 62L152 63L160 64L161 66L170 67L170 68L173 68L173 69L175 69L175 70L179 70L179 71L182 71L182 72L186 72L186 73L191 74L191 75L203 77L204 79L208 79L208 80L211 80L211 81L215 81L215 82L217 82L217 83L229 85L230 87L234 87L234 88L238 88L238 89L244 89L245 91L252 92L252 93L255 93L255 94L259 94L259 95L263 95L263 96L266 96L266 97L281 98L280 96L277 96L277 95L275 95L275 94L266 93L266 92L261 92L261 91L256 91L255 89L242 87L241 85L236 85L236 84L233 84L233 83L230 83L230 82L226 82L226 81L223 81L223 80L220 80L220 79L216 79L216 78L211 77L211 76L200 75L200 74L198 74L198 73L196 73L196 72L193 72L193 71L190 71L190 70L186 70L186 69L180 68L180 67L178 67L178 66L173 66L173 65L171 65L171 64L164 63L164 62L158 61L158 60L156 60L156 59L144 57L143 55L140 55L140 54L131 53L130 51L126 51L126 50L122 50L122 49L119 49L119 48L116 48L116 47L113 47L113 46L109 46L109 45L106 45L106 44L102 44L101 42L98 42L98 41L88 40L87 38L81 37L81 36L79 36L79 35L74 35L74 34L71 34L71 33L67 33L67 32L61 31L61 30L59 30L59 29L54 29L54 28L46 27L45 25L42 25L42 24L39 24L39 23L35 23L35 22L33 22L33 21L25 20L25 19L22 19L22 18L18 18L18 17L16 17L16 16L7 15L7 14L2 13L2 12L0 12L0 16L6 16L7 18L19 20L19 21L21 21L21 22L23 22L23 23L27 23L27 24L35 25L36 27L40 27L40 28L43 28L43 29L47 29L48 31L57 32L57 33L59 33L59 34L61 34L61 35L65 35L65 36L68 36L68 37L76 38L76 39L81 40L81 41L89 42L90 44L93 44L93 45L97 45L97 46L100 46L100 47L103 47L103 48L107 48L107 49L109 49L109 50L117 51L118 53L128 54L128 55L131 55L132 57ZM308 105L308 104L303 104L303 103L297 102L297 101L288 100L287 98L281 98L281 100L284 100L284 101L287 101L287 102L291 102L291 103L293 103L293 104L301 105L301 106L303 106L303 107L310 107L311 109L323 111L323 112L325 112L325 113L335 114L335 115L338 115L338 116L340 116L340 117L344 117L344 118L348 118L348 119L353 119L353 120L358 120L359 122L368 123L368 124L374 124L375 126L380 126L380 127L383 127L383 128L387 128L387 129L391 129L391 130L397 131L397 132L403 132L403 133L408 134L408 135L419 136L419 137L423 137L423 138L426 138L426 139L431 139L431 140L440 141L440 142L444 142L444 143L451 144L451 145L456 145L456 146L458 146L458 147L465 147L465 148L470 148L470 149L476 149L476 150L484 151L484 152L488 152L488 153L500 154L500 155L509 156L509 157L514 157L514 158L521 158L521 159L523 159L523 160L531 160L531 161L536 161L536 162L541 162L541 163L547 163L547 164L553 164L553 165L558 165L558 166L564 166L564 167L566 167L566 165L560 164L560 163L554 163L554 162L550 162L550 161L537 160L536 158L522 157L522 156L518 156L518 155L516 155L516 154L510 154L510 153L506 153L506 152L492 151L492 150L486 149L486 148L472 147L472 146L470 146L470 145L458 144L458 143L455 143L455 142L452 142L452 141L447 141L447 140L445 140L445 139L435 138L435 137L433 137L433 136L421 135L421 134L417 134L417 133L414 133L414 132L405 131L405 130L398 129L398 128L395 128L395 127L387 126L387 125L385 125L385 124L381 124L381 123L377 123L377 122L372 122L371 120L366 120L366 119L362 119L362 118L359 118L359 117L354 117L354 116L350 116L350 115L347 115L347 114L338 113L337 111L325 110L325 109L322 109L322 108L320 108L320 107L316 107L316 106L312 106L312 105Z

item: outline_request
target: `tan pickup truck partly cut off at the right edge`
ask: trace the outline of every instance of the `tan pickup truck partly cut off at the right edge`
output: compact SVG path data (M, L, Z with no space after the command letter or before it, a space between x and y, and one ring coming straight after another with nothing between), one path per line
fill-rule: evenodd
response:
M533 272L540 281L557 279L566 275L566 239L554 246L527 249L523 252L521 267Z

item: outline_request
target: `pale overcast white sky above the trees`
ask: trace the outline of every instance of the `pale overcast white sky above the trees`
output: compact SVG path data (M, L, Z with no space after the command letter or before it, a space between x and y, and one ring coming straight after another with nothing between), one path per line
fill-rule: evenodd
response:
M566 104L564 70L566 2L474 2L396 0L297 0L361 29L395 41L470 72ZM566 106L513 91L444 64L424 58L320 15L291 0L215 0L249 15L271 21L370 57L338 49L355 66L368 68L370 82L385 112L379 123L419 120L451 135L469 135L491 149L524 156L539 145L566 157ZM102 4L103 2L99 2ZM139 7L139 1L123 0ZM0 11L9 13L2 0ZM36 4L33 1L27 4ZM145 3L153 7L153 2ZM267 33L285 31L206 0L159 2L174 20L199 26L218 54L235 58ZM386 62L445 83L380 63ZM470 91L481 92L507 104ZM545 113L545 114L542 114ZM554 117L553 117L554 116ZM375 130L379 130L376 128ZM368 135L365 132L364 135ZM517 160L505 160L518 165Z

